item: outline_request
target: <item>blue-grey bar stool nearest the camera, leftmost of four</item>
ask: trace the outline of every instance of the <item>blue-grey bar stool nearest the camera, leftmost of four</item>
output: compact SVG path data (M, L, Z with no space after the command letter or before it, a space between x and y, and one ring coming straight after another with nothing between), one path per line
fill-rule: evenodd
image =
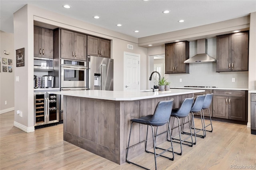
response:
M147 153L154 154L154 157L155 157L155 168L156 169L157 169L156 158L158 156L162 156L164 158L168 158L170 160L174 160L174 152L173 152L172 140L170 141L171 146L168 149L159 148L159 149L162 149L164 151L162 151L160 154L156 154L156 142L155 142L155 136L154 136L154 127L163 126L163 125L166 125L166 123L168 123L168 132L171 135L169 119L170 119L170 115L172 113L173 100L174 99L171 99L169 101L159 101L158 104L156 105L156 109L154 111L154 115L147 115L147 116L144 116L144 117L140 117L138 119L131 119L132 123L131 123L130 135L129 135L127 152L126 152L126 162L134 164L136 166L139 166L140 168L144 168L144 169L148 170L148 168L128 160L128 151L129 151L129 149L134 147L134 146L137 146L138 144L142 144L144 142L146 142L146 144L145 144L145 151ZM132 132L132 125L133 125L133 123L139 123L139 124L147 125L147 134L146 134L146 140L143 140L142 142L139 142L137 144L134 144L134 145L130 146L130 138L131 138L131 132ZM147 150L148 126L150 126L152 128L154 152L150 152L149 150ZM170 149L172 149L172 151L170 151ZM164 152L167 152L167 151L172 152L172 158L162 155Z

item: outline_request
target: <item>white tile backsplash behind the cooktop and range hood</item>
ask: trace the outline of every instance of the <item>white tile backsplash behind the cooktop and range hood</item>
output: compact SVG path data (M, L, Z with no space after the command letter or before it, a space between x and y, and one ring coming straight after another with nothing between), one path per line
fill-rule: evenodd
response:
M196 41L190 42L189 57L196 55ZM208 39L208 55L216 59L216 38ZM190 64L189 74L166 74L171 87L216 86L218 88L248 88L248 71L216 72L216 63ZM232 82L235 78L235 82ZM182 82L180 82L182 79Z

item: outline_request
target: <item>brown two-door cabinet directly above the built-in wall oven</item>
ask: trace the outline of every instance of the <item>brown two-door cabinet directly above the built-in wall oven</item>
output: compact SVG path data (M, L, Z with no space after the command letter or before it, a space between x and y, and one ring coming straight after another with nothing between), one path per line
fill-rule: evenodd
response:
M86 35L62 29L61 58L86 60Z

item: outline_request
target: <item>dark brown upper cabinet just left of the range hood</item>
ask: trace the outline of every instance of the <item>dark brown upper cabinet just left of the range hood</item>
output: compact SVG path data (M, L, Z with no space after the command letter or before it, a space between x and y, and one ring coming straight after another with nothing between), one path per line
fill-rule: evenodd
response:
M189 42L165 44L165 73L189 73L189 64L184 61L189 58Z

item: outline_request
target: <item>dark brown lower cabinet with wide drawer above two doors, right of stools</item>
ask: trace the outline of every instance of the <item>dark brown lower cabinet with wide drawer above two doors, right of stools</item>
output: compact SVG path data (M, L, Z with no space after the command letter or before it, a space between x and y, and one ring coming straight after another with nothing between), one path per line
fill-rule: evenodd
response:
M213 117L247 121L247 91L214 90Z

